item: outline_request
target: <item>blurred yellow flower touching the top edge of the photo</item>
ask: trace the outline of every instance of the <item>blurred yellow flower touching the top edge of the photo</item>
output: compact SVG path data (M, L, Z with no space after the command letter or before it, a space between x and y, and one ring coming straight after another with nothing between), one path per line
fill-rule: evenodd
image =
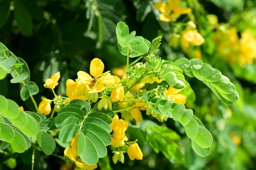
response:
M180 0L168 0L168 4L164 2L157 2L155 8L161 13L159 19L162 21L170 22L173 18L177 19L182 14L189 13L190 8L180 7Z

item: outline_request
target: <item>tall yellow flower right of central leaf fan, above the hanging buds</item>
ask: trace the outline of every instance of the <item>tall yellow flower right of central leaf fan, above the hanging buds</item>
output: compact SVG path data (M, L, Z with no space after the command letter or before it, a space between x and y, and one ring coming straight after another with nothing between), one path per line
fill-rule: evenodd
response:
M119 119L118 115L116 114L110 127L112 128L112 142L110 145L113 147L123 146L124 140L127 140L125 131L128 128L128 121Z

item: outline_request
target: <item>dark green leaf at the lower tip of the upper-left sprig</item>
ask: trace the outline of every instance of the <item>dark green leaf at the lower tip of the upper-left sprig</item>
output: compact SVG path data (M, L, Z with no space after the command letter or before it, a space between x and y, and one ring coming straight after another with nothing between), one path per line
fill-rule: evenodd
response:
M29 96L33 96L35 94L38 94L39 89L36 85L36 83L29 81L26 83L26 85L23 85L20 89L20 97L22 101L27 100Z

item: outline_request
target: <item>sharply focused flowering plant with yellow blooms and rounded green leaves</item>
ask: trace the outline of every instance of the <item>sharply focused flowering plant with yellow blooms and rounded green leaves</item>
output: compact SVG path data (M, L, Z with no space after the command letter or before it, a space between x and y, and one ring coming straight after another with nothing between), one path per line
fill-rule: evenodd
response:
M205 83L227 104L238 100L236 87L218 69L200 59L180 58L173 62L157 56L162 36L150 42L135 34L135 31L129 32L124 22L118 22L118 49L126 56L123 75L104 72L102 60L94 58L90 74L79 71L77 79L67 79L66 95L61 96L55 92L61 78L61 73L56 72L44 84L54 97L42 97L39 106L33 98L39 89L30 81L25 60L1 43L2 78L11 74L11 83L22 85L22 100L31 98L35 107L34 112L23 111L15 101L0 95L0 137L4 149L23 153L33 148L33 153L40 150L45 155L56 155L57 143L65 148L57 157L90 170L102 166L109 152L113 153L114 163L124 163L126 153L130 160L141 160L144 156L141 148L148 145L167 159L183 163L185 157L177 143L180 135L152 121L157 119L163 123L173 119L184 127L194 152L207 157L213 137L193 110L184 105L193 95L184 75ZM200 45L203 41L197 34L185 32L184 46ZM130 62L131 58L136 59Z

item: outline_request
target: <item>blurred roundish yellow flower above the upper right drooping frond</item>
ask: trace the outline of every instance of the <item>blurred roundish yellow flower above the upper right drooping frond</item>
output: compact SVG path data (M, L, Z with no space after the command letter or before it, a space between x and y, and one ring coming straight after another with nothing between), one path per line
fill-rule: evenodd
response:
M186 30L182 34L182 44L184 47L188 48L190 44L192 45L202 45L204 43L204 38L198 31Z

